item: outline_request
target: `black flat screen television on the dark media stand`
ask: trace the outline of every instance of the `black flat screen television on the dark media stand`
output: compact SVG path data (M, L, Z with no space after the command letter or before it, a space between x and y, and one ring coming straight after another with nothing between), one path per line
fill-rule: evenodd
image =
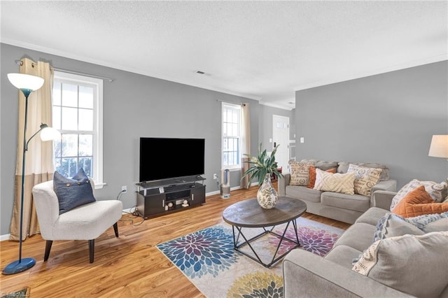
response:
M205 139L140 138L140 182L205 173Z

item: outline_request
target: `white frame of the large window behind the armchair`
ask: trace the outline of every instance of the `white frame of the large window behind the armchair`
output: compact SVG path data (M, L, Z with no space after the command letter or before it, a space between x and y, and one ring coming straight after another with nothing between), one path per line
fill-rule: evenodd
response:
M89 85L94 87L94 103L93 103L93 180L95 189L101 189L106 185L103 180L103 101L104 101L104 82L99 78L92 78L90 76L81 76L74 73L66 73L64 71L55 71L53 83L55 81L62 83ZM53 92L53 90L52 90ZM96 93L96 94L95 94ZM95 96L96 95L96 96ZM52 103L53 106L53 103ZM76 132L76 134L83 134L82 130L64 130L59 129L61 134ZM54 150L54 149L53 149ZM54 151L53 151L54 152ZM53 162L55 162L53 157Z

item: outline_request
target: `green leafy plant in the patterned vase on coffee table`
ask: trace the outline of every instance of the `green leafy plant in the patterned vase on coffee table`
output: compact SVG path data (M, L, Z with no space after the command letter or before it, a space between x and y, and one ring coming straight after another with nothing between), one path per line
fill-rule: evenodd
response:
M277 170L277 162L275 161L275 152L280 145L277 145L274 150L272 150L270 156L267 156L266 149L261 151L261 145L262 143L258 146L258 156L251 157L250 155L245 154L245 156L249 158L247 163L251 164L251 167L244 172L241 180L248 176L249 185L251 185L251 180L254 177L258 179L258 185L261 185L268 173L269 175L276 174L279 178L283 178L281 173Z

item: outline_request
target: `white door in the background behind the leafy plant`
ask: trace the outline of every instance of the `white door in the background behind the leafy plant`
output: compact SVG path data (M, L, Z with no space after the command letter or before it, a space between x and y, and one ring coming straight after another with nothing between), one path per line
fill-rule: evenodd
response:
M272 115L272 148L280 145L277 149L275 160L282 168L282 173L289 173L289 117Z

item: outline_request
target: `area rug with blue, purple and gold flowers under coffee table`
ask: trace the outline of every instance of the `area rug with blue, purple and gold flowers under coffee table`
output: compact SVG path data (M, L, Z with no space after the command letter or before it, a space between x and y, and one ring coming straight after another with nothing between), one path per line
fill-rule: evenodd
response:
M284 225L274 227L274 232L282 234ZM246 237L260 232L262 229L243 228ZM322 257L330 251L342 232L344 230L336 227L297 218L300 248ZM295 239L292 224L286 236ZM266 234L251 242L251 245L260 259L269 263L278 243L279 237ZM277 256L294 245L282 241ZM283 297L281 260L268 269L235 251L232 226L225 222L161 243L157 247L206 297ZM248 246L243 249L253 255Z

